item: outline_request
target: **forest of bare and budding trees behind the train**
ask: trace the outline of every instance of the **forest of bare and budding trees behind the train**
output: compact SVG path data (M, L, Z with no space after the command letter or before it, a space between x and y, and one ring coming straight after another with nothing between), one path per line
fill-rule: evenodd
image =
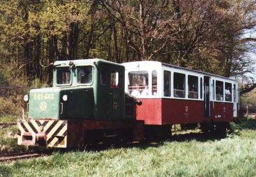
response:
M253 0L5 0L0 71L51 85L56 60L155 60L239 78L243 94L256 87L255 10Z

